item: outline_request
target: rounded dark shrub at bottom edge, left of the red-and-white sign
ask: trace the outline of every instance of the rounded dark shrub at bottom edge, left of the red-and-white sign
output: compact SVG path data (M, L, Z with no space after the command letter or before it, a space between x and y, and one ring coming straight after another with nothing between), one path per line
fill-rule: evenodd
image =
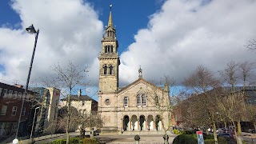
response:
M174 138L173 144L183 144L183 143L190 143L190 144L197 144L197 138L194 138L192 134L181 134Z

